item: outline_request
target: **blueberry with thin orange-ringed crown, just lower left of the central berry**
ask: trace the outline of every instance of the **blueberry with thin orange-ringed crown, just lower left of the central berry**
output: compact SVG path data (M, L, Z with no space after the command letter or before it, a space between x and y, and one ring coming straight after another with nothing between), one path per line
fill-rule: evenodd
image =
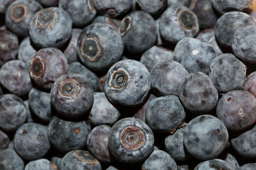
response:
M58 78L51 89L52 106L65 117L79 117L93 104L92 85L79 74Z

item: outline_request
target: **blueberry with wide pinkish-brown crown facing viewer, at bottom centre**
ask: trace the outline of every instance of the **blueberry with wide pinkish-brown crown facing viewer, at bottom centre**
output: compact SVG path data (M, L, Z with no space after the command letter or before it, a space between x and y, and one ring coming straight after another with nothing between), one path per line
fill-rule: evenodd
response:
M135 164L147 159L152 152L154 134L143 121L137 118L123 118L113 125L108 146L117 160Z

